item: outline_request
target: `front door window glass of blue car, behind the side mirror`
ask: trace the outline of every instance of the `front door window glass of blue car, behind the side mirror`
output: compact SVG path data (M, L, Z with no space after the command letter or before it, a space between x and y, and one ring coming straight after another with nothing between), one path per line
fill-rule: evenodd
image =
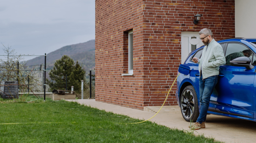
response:
M225 54L226 64L230 65L230 61L241 56L247 56L252 60L253 52L244 45L238 43L228 43Z

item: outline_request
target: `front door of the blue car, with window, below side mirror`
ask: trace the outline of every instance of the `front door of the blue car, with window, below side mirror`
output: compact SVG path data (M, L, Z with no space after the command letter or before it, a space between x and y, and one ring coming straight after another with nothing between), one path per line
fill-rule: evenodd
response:
M235 67L229 64L232 60L230 55L243 56L243 51L250 50L250 48L241 43L227 43L226 47L227 64L220 66L220 77L215 87L218 92L216 112L253 118L255 68L247 70L245 67ZM252 60L255 55L252 51L251 53L249 58Z

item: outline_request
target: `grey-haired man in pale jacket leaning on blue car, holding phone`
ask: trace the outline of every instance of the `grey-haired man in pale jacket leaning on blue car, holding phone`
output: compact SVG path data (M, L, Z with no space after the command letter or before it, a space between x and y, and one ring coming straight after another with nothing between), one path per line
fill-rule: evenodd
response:
M200 114L198 119L191 127L192 129L205 128L205 120L207 110L209 108L210 97L215 85L218 82L219 67L226 63L225 56L221 45L212 39L212 31L207 28L200 32L200 39L205 47L201 59L193 58L193 62L198 63L199 78L199 92L200 92Z

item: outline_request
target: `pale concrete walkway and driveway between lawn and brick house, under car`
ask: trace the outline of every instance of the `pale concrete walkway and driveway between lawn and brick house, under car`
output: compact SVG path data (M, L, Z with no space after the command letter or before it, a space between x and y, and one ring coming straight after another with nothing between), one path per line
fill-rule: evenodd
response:
M83 100L67 100L76 101L79 104L95 107L97 109L104 109L107 112L127 115L132 118L139 118L147 120L155 115L160 109L157 107L147 107L147 111L139 109L132 109L95 101L95 99ZM164 106L161 111L150 121L177 129L189 130L189 122L186 122L180 112L178 106ZM256 142L256 122L246 121L236 118L222 117L217 115L207 115L206 128L199 129L195 135L204 134L205 137L214 137L226 143L255 143Z

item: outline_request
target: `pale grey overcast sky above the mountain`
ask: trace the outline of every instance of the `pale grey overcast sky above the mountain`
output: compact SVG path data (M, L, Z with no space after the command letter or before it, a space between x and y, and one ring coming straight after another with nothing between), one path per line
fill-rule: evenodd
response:
M17 54L44 55L95 39L95 0L0 1L0 43Z

